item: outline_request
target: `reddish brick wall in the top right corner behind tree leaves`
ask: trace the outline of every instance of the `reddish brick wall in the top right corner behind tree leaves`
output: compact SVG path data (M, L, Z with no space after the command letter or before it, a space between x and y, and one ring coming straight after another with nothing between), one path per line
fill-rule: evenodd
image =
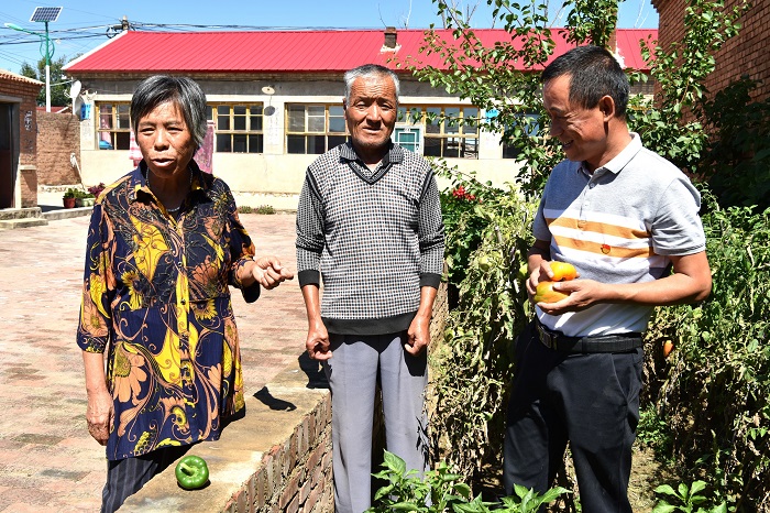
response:
M732 9L738 2L726 0L725 6ZM674 41L682 41L688 3L685 0L652 0L659 14L658 40L663 48L668 50ZM716 54L716 69L706 80L706 87L716 92L743 74L748 74L750 78L762 80L754 98L763 100L770 97L770 54L766 42L770 32L770 2L755 1L739 22L741 29L738 36L729 40Z

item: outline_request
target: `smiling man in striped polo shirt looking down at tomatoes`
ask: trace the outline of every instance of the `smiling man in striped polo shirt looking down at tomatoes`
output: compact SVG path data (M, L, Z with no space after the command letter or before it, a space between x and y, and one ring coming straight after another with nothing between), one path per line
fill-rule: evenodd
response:
M629 132L629 85L615 57L573 48L542 74L550 133L566 155L543 189L529 251L530 297L573 264L579 279L538 303L517 339L504 483L542 492L570 443L584 512L631 512L631 444L639 419L641 332L657 305L711 291L701 198L673 164ZM673 271L673 272L671 272Z

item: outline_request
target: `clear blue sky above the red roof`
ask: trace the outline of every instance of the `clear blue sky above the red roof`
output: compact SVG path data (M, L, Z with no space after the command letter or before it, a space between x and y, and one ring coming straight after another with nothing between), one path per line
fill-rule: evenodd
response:
M477 6L472 17L475 28L488 28L491 9L486 0L458 0L463 10ZM552 9L554 26L563 26L559 7L563 0L542 0ZM41 58L41 37L4 26L45 33L45 24L31 22L36 7L62 7L57 21L48 23L54 41L54 59L68 59L108 41L108 32L127 17L138 29L191 31L204 26L231 26L231 30L270 29L427 29L441 26L436 3L431 0L3 0L0 2L0 68L19 73L22 63L32 66ZM198 25L168 26L158 25ZM499 24L497 25L499 26ZM658 13L650 0L625 0L619 6L622 29L657 28Z

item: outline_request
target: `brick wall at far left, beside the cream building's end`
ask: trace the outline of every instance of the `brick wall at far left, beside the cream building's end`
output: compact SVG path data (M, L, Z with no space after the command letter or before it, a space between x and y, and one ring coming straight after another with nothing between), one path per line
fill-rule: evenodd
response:
M72 114L37 113L37 182L41 185L80 183L80 175L70 163L70 155L80 162L80 125Z

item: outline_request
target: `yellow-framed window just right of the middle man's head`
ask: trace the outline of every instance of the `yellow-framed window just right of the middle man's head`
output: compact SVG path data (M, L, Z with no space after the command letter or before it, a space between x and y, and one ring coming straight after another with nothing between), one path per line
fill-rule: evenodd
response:
M476 107L399 107L398 121L421 123L426 156L479 159Z

